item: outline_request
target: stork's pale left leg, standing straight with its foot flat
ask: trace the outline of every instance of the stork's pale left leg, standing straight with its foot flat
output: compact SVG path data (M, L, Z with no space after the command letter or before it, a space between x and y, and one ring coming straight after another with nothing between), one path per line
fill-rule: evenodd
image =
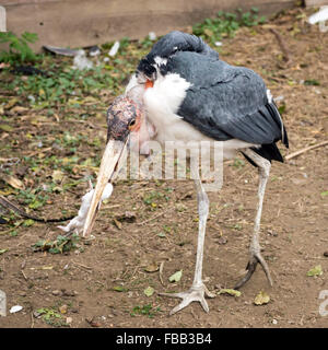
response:
M213 293L209 292L207 287L203 284L202 278L201 278L206 225L207 225L207 219L209 214L209 199L206 191L202 188L201 180L199 178L195 180L195 185L197 189L198 214L199 214L199 232L198 232L198 243L197 243L195 277L194 277L192 285L187 292L174 293L174 294L161 293L161 295L183 299L180 304L178 304L171 311L169 315L175 314L176 312L189 305L191 302L199 302L202 308L208 313L209 306L204 299L204 295L209 298L215 296Z

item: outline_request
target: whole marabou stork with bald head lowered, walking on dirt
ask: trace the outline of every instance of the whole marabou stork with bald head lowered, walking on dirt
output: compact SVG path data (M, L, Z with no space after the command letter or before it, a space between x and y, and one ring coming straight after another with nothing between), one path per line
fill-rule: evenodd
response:
M223 141L224 158L232 158L239 151L259 172L258 206L247 272L235 288L250 279L258 262L272 284L260 253L259 229L271 161L283 162L276 142L282 140L288 147L288 135L272 96L257 73L222 61L215 50L195 35L171 32L141 59L125 94L110 105L107 125L107 144L83 236L91 232L102 192L128 145L130 132L137 132L141 142L149 139L160 142ZM204 296L214 296L202 281L209 200L200 177L195 184L199 213L195 278L188 291L162 294L183 300L171 314L194 301L200 302L209 312Z

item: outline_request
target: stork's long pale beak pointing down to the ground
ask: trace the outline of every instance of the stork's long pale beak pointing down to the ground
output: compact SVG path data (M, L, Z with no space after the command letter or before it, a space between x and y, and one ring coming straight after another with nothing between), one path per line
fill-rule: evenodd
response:
M98 211L98 205L102 199L103 191L113 177L114 172L117 168L121 154L127 147L128 139L124 141L109 140L106 144L105 152L103 154L99 173L97 177L97 184L94 189L94 194L91 200L89 212L83 228L83 237L87 236L94 224L96 213Z

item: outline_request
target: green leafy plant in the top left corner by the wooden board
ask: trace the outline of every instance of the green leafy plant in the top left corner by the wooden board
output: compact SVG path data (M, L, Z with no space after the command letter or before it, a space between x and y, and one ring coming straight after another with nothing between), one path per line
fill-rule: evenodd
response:
M37 56L33 52L28 43L35 43L38 39L37 34L25 32L19 37L12 32L0 32L0 44L9 44L9 51L0 52L0 61L35 61Z

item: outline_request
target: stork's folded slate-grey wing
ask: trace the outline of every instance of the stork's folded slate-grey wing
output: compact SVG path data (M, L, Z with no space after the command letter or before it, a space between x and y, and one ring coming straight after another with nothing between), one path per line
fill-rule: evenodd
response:
M196 52L177 52L167 71L191 83L177 114L204 135L257 144L282 139L279 112L268 102L265 82L254 71Z

